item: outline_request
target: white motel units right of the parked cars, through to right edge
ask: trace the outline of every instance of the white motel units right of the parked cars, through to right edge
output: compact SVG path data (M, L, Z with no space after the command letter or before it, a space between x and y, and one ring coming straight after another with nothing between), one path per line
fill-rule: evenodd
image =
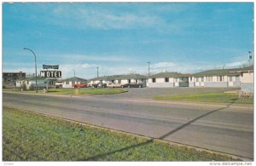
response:
M148 87L241 87L242 91L253 92L253 66L233 69L208 70L195 74L160 72L148 77Z

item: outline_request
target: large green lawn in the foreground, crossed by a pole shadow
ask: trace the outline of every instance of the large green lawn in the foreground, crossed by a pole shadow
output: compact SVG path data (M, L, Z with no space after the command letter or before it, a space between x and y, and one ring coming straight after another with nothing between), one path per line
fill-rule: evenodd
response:
M234 158L3 107L3 161L84 160L224 161Z

